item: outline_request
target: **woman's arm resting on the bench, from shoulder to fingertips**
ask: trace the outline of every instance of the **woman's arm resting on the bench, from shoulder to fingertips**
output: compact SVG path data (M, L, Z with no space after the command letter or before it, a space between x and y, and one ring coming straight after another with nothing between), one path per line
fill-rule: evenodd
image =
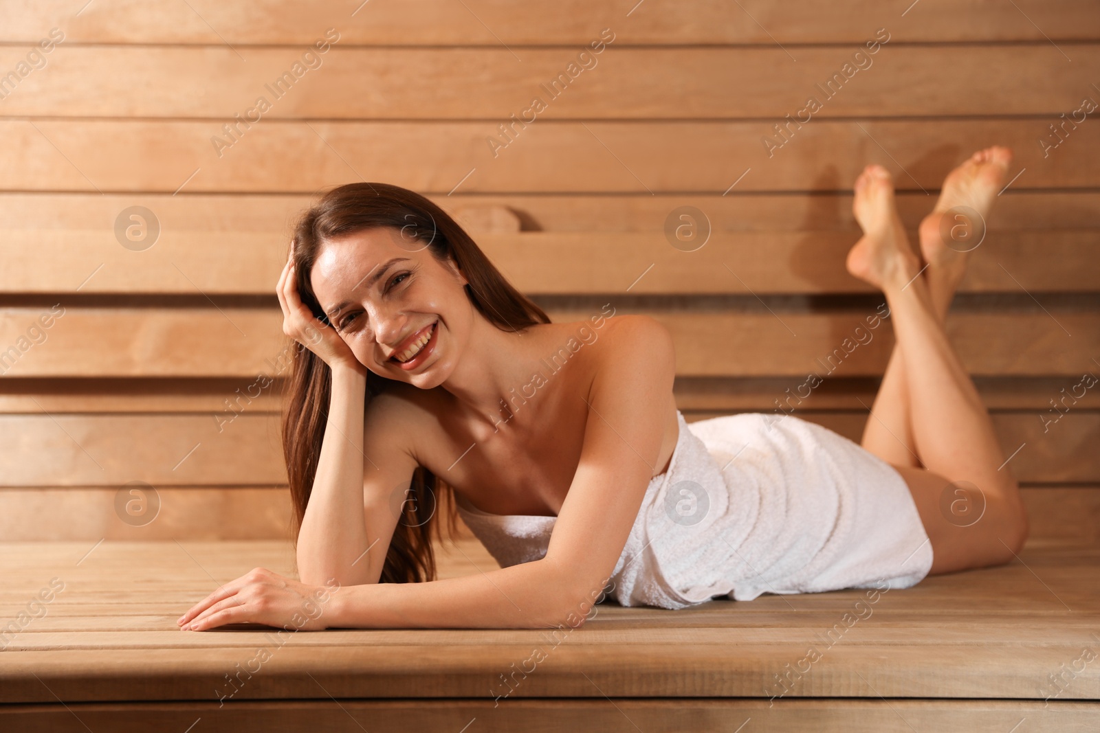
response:
M581 460L546 557L462 578L321 588L257 568L189 611L194 630L254 621L299 629L578 626L600 599L634 526L656 466L672 400L675 355L652 319L624 319L587 396ZM334 592L329 593L329 590ZM304 602L324 595L308 620Z

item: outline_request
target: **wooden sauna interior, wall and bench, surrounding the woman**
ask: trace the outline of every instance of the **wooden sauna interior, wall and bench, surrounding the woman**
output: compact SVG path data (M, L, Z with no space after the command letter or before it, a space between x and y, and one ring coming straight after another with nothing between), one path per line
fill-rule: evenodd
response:
M1092 0L0 0L0 728L1097 730L1098 85ZM859 442L893 336L851 338L853 182L890 170L915 242L992 144L946 329L1026 502L1011 563L565 637L177 629L295 573L275 284L323 191L429 197L554 321L657 319L689 422ZM438 552L496 567L461 524Z

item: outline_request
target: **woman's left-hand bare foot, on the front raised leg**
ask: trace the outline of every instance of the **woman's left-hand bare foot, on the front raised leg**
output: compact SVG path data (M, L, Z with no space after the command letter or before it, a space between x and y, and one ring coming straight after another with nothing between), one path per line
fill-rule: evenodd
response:
M894 206L893 179L880 165L869 165L856 179L851 211L864 236L848 253L848 271L880 290L904 287L921 263L909 244Z

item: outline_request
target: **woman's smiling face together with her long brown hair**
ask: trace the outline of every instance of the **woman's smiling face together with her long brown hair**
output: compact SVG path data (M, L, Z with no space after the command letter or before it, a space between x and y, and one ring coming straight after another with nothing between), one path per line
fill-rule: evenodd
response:
M384 252L384 259L363 257L367 249ZM438 331L432 329L429 347L415 358L403 364L399 357L444 315L446 337L459 343L468 337L472 309L499 330L550 322L538 306L504 279L447 212L396 186L352 184L332 191L298 223L292 262L294 276L284 278L282 285L295 286L310 314L339 333L333 338L331 332L315 332L314 338L321 333L329 336L330 351L319 356L299 348L288 386L283 446L299 523L306 517L324 437L322 408L331 399L333 367L362 371L367 400L393 387L394 380L428 389L441 380L437 376L441 365L425 367L438 351L432 343L441 338ZM426 299L422 313L400 318L385 312L393 303L407 303L410 291ZM314 327L308 321L300 325ZM290 331L287 335L296 335ZM453 359L454 355L443 357ZM438 524L428 512L439 492L446 490L430 469L418 466L408 488L411 500L400 504L414 515L403 517L391 529L394 534L387 553L372 555L372 559L385 557L381 568L374 568L373 562L363 563L362 568L378 569L374 577L383 582L433 577L429 530ZM365 544L359 547L350 559L358 559L365 548Z

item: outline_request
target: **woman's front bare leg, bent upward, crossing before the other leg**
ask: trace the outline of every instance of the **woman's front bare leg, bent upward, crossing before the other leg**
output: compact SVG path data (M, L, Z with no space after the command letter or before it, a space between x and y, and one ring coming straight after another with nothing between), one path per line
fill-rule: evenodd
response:
M853 275L881 288L891 308L913 448L927 467L898 464L898 469L932 541L932 573L1008 562L1027 533L1015 479L1003 465L989 413L947 340L930 284L920 277L920 260L894 207L890 174L869 166L861 179L854 210L865 235L847 264ZM974 485L974 498L982 504L980 519L967 524L943 510L945 491L959 481Z

